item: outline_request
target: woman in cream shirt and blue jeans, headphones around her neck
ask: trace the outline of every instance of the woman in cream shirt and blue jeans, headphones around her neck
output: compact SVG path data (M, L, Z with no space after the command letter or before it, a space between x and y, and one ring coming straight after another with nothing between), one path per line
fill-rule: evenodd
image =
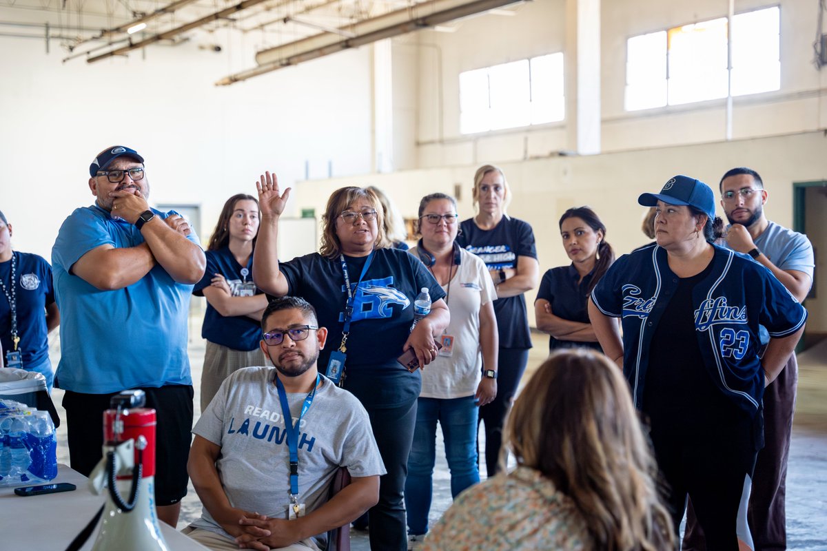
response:
M445 290L451 323L440 337L442 349L437 359L422 373L405 482L411 544L428 531L437 421L451 471L451 495L456 497L480 482L477 410L497 395L497 295L485 263L456 244L458 229L453 197L431 193L419 202L422 239L409 252L422 260Z

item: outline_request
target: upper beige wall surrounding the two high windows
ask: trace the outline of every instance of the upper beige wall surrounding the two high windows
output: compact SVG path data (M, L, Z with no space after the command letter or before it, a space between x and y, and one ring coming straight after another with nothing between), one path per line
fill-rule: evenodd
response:
M570 0L575 1L575 0ZM564 0L528 2L514 17L484 16L461 21L454 33L422 31L428 44L419 62L419 167L520 161L566 149L565 123L459 133L459 74L534 55L564 50ZM762 0L737 0L735 12L769 7ZM780 0L782 88L735 97L733 137L786 135L827 127L827 71L813 64L817 2ZM724 140L724 99L639 112L624 111L626 40L672 26L725 17L727 2L601 2L601 142L604 152ZM566 58L566 63L571 59ZM437 80L443 86L438 88ZM439 107L442 106L442 112ZM440 124L440 116L442 124Z

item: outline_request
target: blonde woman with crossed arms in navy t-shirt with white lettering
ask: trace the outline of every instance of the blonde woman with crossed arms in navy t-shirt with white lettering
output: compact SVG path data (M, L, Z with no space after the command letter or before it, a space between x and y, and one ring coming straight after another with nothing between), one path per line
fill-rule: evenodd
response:
M488 476L493 477L500 455L503 420L523 377L531 348L523 294L537 287L540 267L531 226L505 213L511 192L503 171L490 164L477 169L473 199L477 214L461 223L457 243L485 262L497 289L497 397L480 407L480 421L485 424L485 467Z

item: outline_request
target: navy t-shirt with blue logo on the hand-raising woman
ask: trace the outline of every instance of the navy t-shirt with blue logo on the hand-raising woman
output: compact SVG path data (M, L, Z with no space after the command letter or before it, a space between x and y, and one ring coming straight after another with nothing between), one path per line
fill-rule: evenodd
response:
M414 299L428 287L431 302L445 292L428 268L399 249L376 249L365 278L356 287L367 257L345 256L354 289L351 332L347 338L345 388L363 404L399 406L415 400L422 387L418 372L409 373L396 361L414 322ZM318 324L327 327L327 342L319 354L319 371L342 343L347 289L342 263L313 253L279 264L287 279L288 294L313 305Z

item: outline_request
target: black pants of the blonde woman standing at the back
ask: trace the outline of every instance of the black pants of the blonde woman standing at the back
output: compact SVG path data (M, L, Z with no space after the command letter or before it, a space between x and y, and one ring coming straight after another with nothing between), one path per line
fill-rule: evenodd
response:
M497 459L503 443L503 420L509 412L527 364L528 349L501 348L497 361L497 397L480 407L480 419L477 422L485 423L485 468L489 478L497 473ZM477 450L479 449L478 444Z

